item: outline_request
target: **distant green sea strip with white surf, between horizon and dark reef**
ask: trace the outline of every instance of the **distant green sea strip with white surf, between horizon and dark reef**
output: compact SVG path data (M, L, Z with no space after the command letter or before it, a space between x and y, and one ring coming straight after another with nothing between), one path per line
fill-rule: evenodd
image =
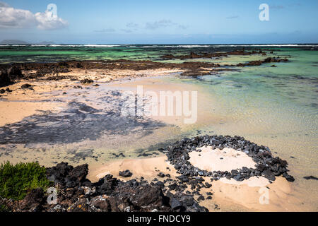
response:
M316 49L317 44L285 45L143 45L143 44L0 44L0 64L16 62L52 62L66 60L132 59L162 61L164 54L189 52L227 52L235 49ZM288 54L288 53L286 53Z

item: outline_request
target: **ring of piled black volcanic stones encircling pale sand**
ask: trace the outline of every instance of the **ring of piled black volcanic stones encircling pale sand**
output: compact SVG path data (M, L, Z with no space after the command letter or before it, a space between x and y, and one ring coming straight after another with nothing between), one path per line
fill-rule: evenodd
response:
M271 59L266 59L266 61L271 61ZM212 146L213 149L219 148L222 150L223 148L233 148L238 152L242 151L247 153L249 157L252 157L254 160L257 169L242 167L242 169L233 169L231 172L207 172L191 165L188 161L189 152L197 151L198 148L208 145ZM211 177L211 181L226 177L228 179L233 178L240 182L254 176L264 176L273 181L276 176L283 175L288 182L295 180L287 173L287 161L281 160L279 157L273 157L269 148L246 141L245 138L240 136L205 135L196 136L194 138L184 138L181 141L169 145L163 152L166 153L168 160L174 165L177 172L182 174L182 176L177 177L177 179L182 182L192 183L192 181L194 181L197 184L198 181L194 179L194 177L198 176ZM196 186L192 184L192 189L195 187Z

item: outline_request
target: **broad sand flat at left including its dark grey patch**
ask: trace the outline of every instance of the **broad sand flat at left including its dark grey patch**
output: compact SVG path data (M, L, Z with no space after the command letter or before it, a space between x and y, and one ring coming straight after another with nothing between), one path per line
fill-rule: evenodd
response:
M150 70L148 73L153 75L156 72ZM193 85L170 83L169 79L165 81L162 78L164 77L125 78L111 83L94 80L94 83L88 85L71 79L40 80L32 83L20 81L11 85L13 92L5 93L0 103L14 107L18 105L15 103L23 102L23 107L18 112L22 116L20 119L1 119L3 125L7 124L4 136L8 137L0 145L1 149L6 150L6 155L1 155L1 160L38 161L46 166L52 166L61 160L75 165L101 165L102 162L117 159L114 154L119 153L123 153L124 157L143 157L144 153L145 156L155 156L160 153L158 148L180 138L180 133L199 128L207 121L220 121L220 117L206 114L208 109L204 108L202 100L212 100L208 100L202 90ZM31 83L33 90L20 88L25 83ZM182 116L144 119L121 117L120 95L127 90L136 93L137 85L143 85L144 92L152 90L158 95L162 90L172 93L197 90L201 110L196 124L184 124ZM6 116L15 111L13 108L7 110L3 113ZM13 118L16 120L12 120ZM33 130L28 129L30 127ZM91 132L88 134L86 131ZM20 136L16 136L17 132Z

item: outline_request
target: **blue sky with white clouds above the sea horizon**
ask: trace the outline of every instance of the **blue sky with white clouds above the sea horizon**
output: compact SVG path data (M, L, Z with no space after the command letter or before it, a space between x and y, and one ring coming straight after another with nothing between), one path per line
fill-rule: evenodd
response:
M268 20L259 18L261 4L269 6ZM0 41L317 43L317 23L317 0L0 0Z

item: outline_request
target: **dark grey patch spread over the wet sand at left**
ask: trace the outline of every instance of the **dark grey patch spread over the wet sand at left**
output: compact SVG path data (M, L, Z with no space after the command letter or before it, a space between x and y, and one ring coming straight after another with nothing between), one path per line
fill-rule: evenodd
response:
M98 113L98 114L97 114ZM103 133L146 136L165 126L162 122L141 117L123 117L118 110L102 112L80 102L70 102L63 112L45 112L0 128L1 144L73 143L96 140Z

